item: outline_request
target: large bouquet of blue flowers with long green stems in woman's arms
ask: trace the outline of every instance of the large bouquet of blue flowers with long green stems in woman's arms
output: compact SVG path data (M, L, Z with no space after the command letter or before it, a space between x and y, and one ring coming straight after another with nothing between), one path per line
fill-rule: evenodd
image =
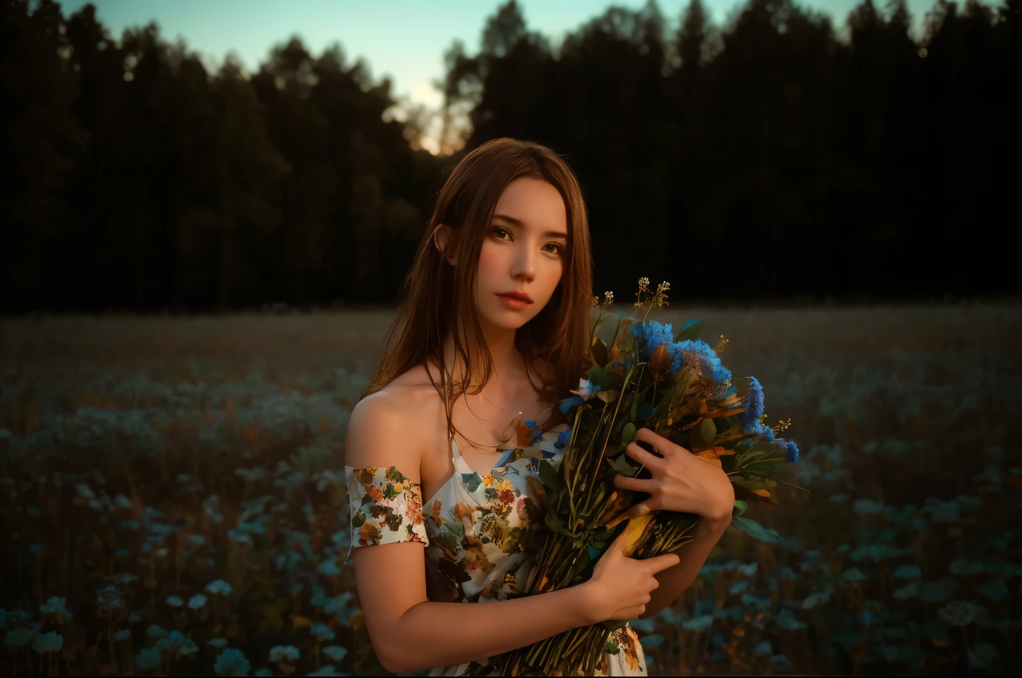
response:
M775 437L786 428L764 426L763 393L755 378L733 378L716 349L698 340L702 321L687 322L676 336L670 325L647 321L667 303L668 283L653 291L639 281L637 320L620 313L612 344L592 339L593 366L574 396L561 403L572 422L567 449L555 467L540 463L544 522L531 535L538 545L524 594L542 593L585 581L601 552L618 536L625 554L638 559L667 553L691 540L698 517L633 510L644 495L614 488L616 474L643 473L624 454L636 431L646 427L719 465L735 486L733 524L755 535L762 528L739 518L749 500L772 502L784 465L798 461L798 447ZM603 322L613 294L599 305ZM566 436L565 436L566 437ZM654 451L655 450L651 450ZM648 473L648 472L647 472ZM643 506L645 508L645 506ZM592 675L610 632L625 621L566 631L498 660L503 675Z

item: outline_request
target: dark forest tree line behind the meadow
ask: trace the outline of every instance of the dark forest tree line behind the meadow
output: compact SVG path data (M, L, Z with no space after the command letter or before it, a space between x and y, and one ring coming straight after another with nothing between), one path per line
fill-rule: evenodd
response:
M0 0L3 310L389 302L462 153L563 153L599 290L676 298L1016 293L1022 0L846 25L749 0L610 7L557 45L512 1L445 54L444 144L386 80L297 38L246 76L155 25Z

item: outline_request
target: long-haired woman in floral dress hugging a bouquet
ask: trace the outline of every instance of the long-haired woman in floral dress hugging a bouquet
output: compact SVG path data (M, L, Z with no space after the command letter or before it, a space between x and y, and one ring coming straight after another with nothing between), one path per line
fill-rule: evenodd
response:
M589 581L509 599L530 565L520 544L537 517L528 457L559 461L552 442L566 424L555 420L556 403L588 367L591 270L578 185L551 150L492 141L440 191L383 360L349 424L352 558L366 626L389 671L486 675L486 658L656 614L692 582L728 525L734 493L724 472L671 453L682 448L643 429L636 441L664 458L634 442L629 454L655 461L653 477L615 483L649 493L651 510L698 514L695 540L646 561L625 558L618 540ZM523 419L546 433L531 435ZM634 631L611 641L619 649L598 672L645 675Z

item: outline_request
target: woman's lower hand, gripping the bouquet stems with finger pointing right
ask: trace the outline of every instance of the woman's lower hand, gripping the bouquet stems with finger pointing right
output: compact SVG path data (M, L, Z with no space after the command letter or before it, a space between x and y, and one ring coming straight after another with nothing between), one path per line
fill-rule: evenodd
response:
M590 623L635 619L646 612L650 592L660 583L656 573L681 562L675 553L638 561L624 554L624 532L600 558L589 581L579 584Z

